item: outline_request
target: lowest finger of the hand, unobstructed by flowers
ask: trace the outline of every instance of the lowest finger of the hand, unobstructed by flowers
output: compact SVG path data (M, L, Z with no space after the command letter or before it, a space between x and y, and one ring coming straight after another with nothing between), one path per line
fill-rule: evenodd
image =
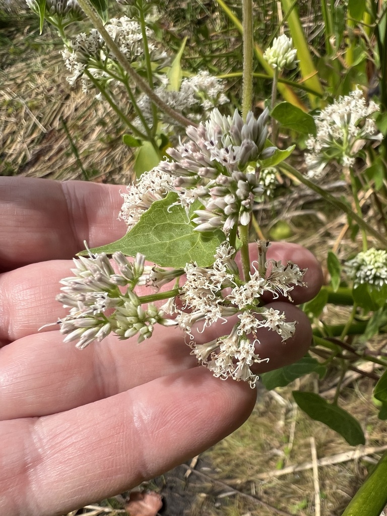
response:
M242 382L203 368L94 404L0 425L0 505L54 516L154 478L240 426L255 403Z

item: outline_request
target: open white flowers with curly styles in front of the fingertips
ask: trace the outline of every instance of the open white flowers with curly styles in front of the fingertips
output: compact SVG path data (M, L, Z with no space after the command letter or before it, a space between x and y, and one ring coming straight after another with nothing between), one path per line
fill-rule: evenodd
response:
M262 295L269 292L274 298L290 297L295 285L304 285L304 271L298 266L266 261L267 246L267 243L259 243L260 261L246 282L239 279L233 260L235 250L227 242L217 249L211 268L187 264L187 280L180 289L184 307L177 310L176 316L180 327L190 336L192 354L211 369L214 376L248 381L251 386L257 379L251 366L262 361L255 352L255 345L259 344L257 332L267 328L285 341L293 336L296 325L295 321L286 321L284 313L262 307ZM196 344L193 324L201 321L205 328L234 314L238 314L239 321L229 335Z

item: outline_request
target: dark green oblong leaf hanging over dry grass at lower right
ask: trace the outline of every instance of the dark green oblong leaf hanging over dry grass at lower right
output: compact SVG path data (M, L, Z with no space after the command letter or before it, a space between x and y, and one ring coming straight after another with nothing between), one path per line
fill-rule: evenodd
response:
M309 417L329 426L344 437L348 444L351 446L365 444L364 433L359 422L346 410L328 403L314 392L293 391L293 396L300 409Z

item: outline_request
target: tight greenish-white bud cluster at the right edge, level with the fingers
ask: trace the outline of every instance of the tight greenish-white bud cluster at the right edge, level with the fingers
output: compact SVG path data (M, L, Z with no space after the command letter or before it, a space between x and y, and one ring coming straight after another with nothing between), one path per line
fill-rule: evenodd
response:
M345 266L355 287L364 283L377 288L387 285L386 251L374 248L362 251Z

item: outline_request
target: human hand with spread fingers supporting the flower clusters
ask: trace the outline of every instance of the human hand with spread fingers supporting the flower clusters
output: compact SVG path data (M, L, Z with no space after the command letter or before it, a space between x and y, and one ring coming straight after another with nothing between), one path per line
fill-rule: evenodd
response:
M56 327L37 333L67 315L55 296L83 241L95 247L123 236L119 190L0 178L0 507L7 516L63 514L123 492L227 436L254 406L247 383L196 366L178 329L156 327L141 344L108 336L82 351L63 344ZM318 292L322 274L309 251L273 244L268 257L308 268L295 303ZM262 330L260 356L270 360L254 373L298 360L311 342L299 309L271 304L299 324L285 343Z

